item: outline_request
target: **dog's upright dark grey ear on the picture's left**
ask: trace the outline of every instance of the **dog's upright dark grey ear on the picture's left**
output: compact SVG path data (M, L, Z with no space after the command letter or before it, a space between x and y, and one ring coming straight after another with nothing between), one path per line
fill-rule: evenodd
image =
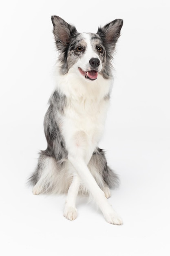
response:
M51 16L53 22L53 34L55 36L55 43L59 50L63 49L63 46L70 43L71 36L76 35L78 32L73 25L68 24L65 20L59 16Z

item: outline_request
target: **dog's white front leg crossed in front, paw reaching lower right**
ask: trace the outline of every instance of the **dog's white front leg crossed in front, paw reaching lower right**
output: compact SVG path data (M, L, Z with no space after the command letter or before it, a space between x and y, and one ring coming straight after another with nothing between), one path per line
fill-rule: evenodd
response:
M87 167L87 163L84 160L84 158L82 157L82 155L83 154L81 152L81 149L79 149L79 150L77 150L75 155L73 153L69 154L68 160L74 166L80 179L84 183L84 186L92 194L95 202L101 209L105 220L111 224L121 225L122 224L121 218L119 218L117 213L113 210L111 205L108 203L108 201L104 195L104 192L97 185L97 182L95 181L91 172L89 171L89 169Z

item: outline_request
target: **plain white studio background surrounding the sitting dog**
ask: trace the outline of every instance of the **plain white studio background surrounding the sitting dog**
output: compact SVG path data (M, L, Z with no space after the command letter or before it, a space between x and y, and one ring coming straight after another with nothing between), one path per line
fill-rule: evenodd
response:
M0 254L2 256L170 255L170 3L167 0L9 0L0 6ZM38 151L57 57L51 15L79 32L123 18L115 83L100 146L120 177L108 199L124 220L105 222L65 195L34 196L26 186Z

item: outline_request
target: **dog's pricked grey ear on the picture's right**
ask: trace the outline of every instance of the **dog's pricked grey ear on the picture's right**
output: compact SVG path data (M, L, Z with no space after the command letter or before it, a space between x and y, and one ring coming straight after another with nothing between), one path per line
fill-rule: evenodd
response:
M112 22L106 24L104 27L99 27L97 34L99 34L104 43L115 45L117 39L120 36L120 30L122 26L123 20L113 20Z

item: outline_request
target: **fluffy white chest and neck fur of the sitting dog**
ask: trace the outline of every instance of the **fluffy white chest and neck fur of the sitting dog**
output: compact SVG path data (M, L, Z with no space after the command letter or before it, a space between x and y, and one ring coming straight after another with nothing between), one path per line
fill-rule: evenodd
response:
M82 79L75 82L67 74L59 85L67 98L61 122L66 147L83 148L91 154L104 130L112 81L99 75L92 83Z

